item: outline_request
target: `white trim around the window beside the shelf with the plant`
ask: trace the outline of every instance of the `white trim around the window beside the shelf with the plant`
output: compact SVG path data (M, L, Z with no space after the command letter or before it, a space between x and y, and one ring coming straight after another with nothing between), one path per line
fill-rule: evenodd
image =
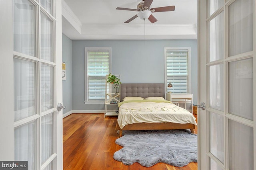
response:
M112 62L112 48L111 47L85 47L84 48L84 104L104 104L105 99L102 101L88 101L88 75L87 75L87 51L88 50L109 50L109 72L111 73L111 62Z

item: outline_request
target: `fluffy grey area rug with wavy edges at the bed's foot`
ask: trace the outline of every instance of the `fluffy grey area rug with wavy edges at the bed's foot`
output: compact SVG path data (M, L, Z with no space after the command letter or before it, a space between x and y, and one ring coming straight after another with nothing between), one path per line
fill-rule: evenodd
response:
M114 159L125 165L150 167L159 162L182 167L197 162L197 135L190 130L123 131Z

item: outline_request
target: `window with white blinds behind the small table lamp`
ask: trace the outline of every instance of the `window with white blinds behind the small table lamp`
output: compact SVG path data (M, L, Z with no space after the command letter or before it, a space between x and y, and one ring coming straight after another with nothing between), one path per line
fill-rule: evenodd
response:
M190 48L164 48L165 83L172 83L172 93L191 92Z

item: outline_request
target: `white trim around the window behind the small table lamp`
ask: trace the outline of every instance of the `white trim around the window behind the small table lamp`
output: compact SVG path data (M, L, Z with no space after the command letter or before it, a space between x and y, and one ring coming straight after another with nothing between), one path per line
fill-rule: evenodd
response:
M188 50L188 93L191 91L191 48L190 47L164 47L164 84L165 84L165 94L167 93L167 63L166 63L166 51L167 50Z

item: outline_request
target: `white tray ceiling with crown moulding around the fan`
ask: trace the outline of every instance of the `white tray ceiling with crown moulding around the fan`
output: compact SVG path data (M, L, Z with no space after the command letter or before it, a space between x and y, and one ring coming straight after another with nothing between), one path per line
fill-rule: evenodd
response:
M154 0L151 8L175 6L156 12L151 23L136 18L140 0L62 0L62 32L70 39L197 39L197 0Z

